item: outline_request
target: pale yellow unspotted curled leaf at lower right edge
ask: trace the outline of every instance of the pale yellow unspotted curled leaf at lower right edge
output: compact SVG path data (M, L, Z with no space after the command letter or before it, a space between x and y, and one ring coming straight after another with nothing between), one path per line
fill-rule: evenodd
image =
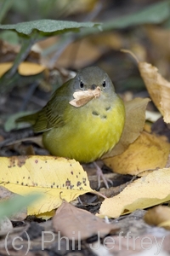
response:
M156 206L170 200L170 168L151 172L130 183L119 195L106 198L99 217L117 218L121 214Z

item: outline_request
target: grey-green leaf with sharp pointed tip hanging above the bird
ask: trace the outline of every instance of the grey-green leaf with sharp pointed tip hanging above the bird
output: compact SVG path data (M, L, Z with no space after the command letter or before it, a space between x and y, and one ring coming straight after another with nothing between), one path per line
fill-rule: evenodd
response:
M65 20L32 20L27 22L20 22L11 25L0 25L0 29L13 30L24 35L30 35L32 32L44 33L63 33L79 30L82 27L99 26L93 22L75 22Z

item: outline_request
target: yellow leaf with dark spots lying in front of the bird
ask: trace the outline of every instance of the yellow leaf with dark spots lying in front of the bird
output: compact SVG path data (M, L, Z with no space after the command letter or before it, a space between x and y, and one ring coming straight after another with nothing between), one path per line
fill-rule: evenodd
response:
M76 160L40 155L1 157L0 166L1 186L19 195L44 195L28 207L29 215L50 212L63 199L73 201L79 195L94 192L87 172Z

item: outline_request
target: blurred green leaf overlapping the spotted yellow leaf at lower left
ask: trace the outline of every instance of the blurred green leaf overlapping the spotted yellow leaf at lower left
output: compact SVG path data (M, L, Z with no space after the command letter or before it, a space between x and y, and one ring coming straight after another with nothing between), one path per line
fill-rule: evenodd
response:
M10 216L16 212L20 212L28 205L31 205L33 201L39 199L41 194L31 194L26 196L16 195L8 201L0 202L0 219L4 216Z

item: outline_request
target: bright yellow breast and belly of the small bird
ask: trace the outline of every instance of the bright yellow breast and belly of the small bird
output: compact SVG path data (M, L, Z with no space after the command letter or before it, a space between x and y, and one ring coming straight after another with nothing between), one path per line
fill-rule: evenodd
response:
M110 151L119 141L124 126L122 100L94 99L82 108L65 113L65 125L43 133L43 143L51 154L92 162Z

